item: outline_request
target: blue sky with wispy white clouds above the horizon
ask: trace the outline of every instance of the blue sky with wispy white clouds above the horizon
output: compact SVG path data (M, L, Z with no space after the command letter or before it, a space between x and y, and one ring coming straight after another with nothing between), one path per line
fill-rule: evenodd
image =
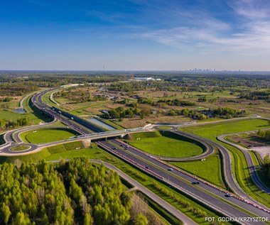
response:
M103 65L270 70L270 1L0 1L0 70Z

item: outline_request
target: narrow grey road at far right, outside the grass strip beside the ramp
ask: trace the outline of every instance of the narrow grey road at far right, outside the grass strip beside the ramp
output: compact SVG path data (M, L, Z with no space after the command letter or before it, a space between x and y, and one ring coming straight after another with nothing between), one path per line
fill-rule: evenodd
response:
M252 132L252 131L247 131L247 132ZM244 132L244 133L247 133L247 132ZM261 182L261 180L259 179L259 175L257 174L255 165L254 165L253 160L252 160L252 156L249 154L249 149L244 148L242 146L239 146L239 145L237 145L235 143L232 143L230 141L227 141L225 139L227 136L232 136L232 135L236 135L236 134L237 133L224 134L224 135L218 136L217 140L222 141L223 143L226 143L226 144L228 144L230 146L234 146L235 148L242 151L242 153L244 154L244 158L246 158L246 160L247 160L247 165L249 167L249 174L252 177L252 180L253 180L254 184L257 185L257 187L259 187L259 189L261 189L264 192L270 194L270 189L268 187L266 187L264 185L264 183Z

